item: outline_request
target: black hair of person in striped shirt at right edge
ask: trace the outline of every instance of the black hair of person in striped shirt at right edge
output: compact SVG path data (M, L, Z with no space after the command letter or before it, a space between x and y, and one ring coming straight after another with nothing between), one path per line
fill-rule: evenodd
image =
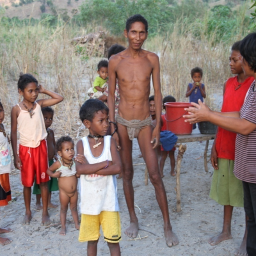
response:
M256 72L256 33L251 33L241 40L240 53L254 72Z

